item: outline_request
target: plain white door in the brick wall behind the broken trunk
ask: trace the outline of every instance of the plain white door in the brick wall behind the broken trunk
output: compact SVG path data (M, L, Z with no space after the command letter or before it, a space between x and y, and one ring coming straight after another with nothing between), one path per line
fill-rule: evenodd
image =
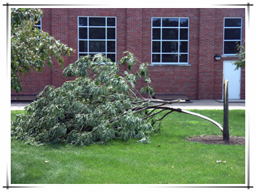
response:
M223 61L224 78L228 80L228 99L240 99L241 68L234 70L234 60Z

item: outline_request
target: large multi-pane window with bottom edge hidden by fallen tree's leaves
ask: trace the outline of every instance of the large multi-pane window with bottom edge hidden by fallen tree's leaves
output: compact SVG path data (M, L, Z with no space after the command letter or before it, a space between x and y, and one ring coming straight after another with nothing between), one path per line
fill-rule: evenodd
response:
M116 62L116 17L78 17L78 57L104 54Z

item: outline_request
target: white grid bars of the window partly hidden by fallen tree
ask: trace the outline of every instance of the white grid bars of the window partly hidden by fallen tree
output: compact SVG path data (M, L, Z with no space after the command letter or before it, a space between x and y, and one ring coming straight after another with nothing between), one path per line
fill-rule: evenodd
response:
M116 17L98 17L98 18L105 18L105 26L90 26L89 25L89 18L95 18L97 16L79 16L77 19L77 26L78 26L78 58L80 54L104 54L105 56L108 56L108 54L115 54L115 58L113 62L116 62ZM87 26L79 26L79 18L87 18ZM115 26L108 26L108 18L115 18ZM79 38L79 28L87 28L87 38ZM105 38L103 39L92 39L89 38L89 29L90 28L105 28ZM114 39L108 39L108 28L114 28L115 29L115 38ZM79 48L79 41L84 40L87 41L87 52L82 52L80 51ZM99 42L99 41L104 41L105 42L105 52L90 52L89 50L89 42ZM115 52L108 52L108 41L115 42Z

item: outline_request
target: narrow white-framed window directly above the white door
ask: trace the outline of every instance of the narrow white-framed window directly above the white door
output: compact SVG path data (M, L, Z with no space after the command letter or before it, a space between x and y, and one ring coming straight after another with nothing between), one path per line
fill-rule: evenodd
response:
M234 55L239 52L237 44L241 45L242 40L242 18L228 17L224 18L224 40L223 54Z

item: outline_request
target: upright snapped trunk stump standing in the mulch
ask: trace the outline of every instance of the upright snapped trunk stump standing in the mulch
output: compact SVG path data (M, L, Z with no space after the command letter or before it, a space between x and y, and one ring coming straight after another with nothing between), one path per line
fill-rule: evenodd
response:
M224 115L223 115L223 140L229 140L228 128L228 80L224 80Z

